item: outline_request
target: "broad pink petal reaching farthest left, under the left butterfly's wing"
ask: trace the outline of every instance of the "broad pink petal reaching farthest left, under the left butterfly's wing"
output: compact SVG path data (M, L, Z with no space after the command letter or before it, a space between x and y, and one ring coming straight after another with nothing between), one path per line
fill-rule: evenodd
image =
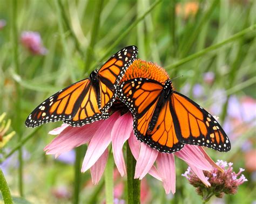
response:
M50 144L44 147L44 151L46 151L46 154L59 155L63 152L68 152L77 146L85 144L91 140L93 133L96 132L98 126L102 122L103 121L97 121L80 127L62 125L57 131L60 131L62 128L63 131L61 131Z

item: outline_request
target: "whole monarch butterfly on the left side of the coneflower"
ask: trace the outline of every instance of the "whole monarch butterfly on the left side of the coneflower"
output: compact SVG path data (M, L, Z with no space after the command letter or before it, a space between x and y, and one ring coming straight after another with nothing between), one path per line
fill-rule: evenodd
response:
M53 94L31 112L25 121L28 127L64 121L72 126L106 119L107 110L116 99L116 89L125 70L137 58L136 46L128 46L114 54L89 78L73 83Z

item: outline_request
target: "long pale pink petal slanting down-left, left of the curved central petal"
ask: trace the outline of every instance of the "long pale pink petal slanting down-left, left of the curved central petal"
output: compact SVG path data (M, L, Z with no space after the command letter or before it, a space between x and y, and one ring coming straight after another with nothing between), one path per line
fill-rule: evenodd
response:
M111 142L111 130L119 116L119 112L115 112L112 116L102 122L93 135L84 157L82 172L91 168L106 150L107 146L109 146Z

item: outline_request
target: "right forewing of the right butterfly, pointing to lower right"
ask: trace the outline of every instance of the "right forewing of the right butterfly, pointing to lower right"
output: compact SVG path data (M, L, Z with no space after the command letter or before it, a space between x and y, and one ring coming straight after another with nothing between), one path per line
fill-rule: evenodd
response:
M178 92L173 92L171 102L171 113L180 142L206 146L220 152L231 149L225 131L200 105Z

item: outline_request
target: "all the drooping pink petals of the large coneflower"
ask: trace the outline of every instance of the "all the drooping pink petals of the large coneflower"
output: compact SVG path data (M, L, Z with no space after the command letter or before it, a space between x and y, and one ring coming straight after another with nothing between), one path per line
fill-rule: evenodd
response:
M122 116L119 112L115 112L105 121L97 121L81 127L63 124L49 132L58 136L44 150L46 154L55 154L58 157L74 147L89 143L82 165L82 172L90 168L92 182L97 184L103 175L109 156L107 147L111 142L117 169L122 177L126 174L123 145L128 140L133 157L137 160L135 179L143 179L149 173L163 182L166 194L175 193L174 156L177 156L191 166L192 171L206 186L210 186L203 171L211 171L213 166L220 167L208 157L203 147L185 145L183 149L173 154L158 152L137 140L133 133L132 123L133 119L130 112Z

